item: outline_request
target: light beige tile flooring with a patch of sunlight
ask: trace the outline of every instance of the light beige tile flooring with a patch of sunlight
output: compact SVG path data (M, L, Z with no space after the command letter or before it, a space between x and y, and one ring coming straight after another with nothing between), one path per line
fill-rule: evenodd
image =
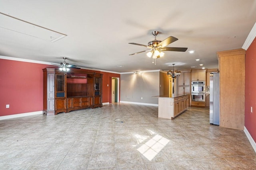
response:
M173 120L157 113L110 104L2 120L0 169L256 169L244 131L210 125L209 109L189 108Z

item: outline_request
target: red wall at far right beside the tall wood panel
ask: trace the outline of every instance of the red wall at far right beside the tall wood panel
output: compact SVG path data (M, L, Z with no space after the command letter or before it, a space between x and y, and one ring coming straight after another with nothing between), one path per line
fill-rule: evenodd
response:
M252 113L251 113L252 107ZM256 141L256 38L245 57L245 121L244 125Z

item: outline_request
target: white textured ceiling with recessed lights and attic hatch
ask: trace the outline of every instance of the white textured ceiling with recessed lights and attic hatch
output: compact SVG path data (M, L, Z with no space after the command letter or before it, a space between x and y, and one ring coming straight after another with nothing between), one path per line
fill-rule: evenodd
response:
M0 12L67 35L50 42L4 29L8 21L1 20L0 55L50 63L67 57L70 64L121 73L169 70L173 63L177 69L218 68L217 51L242 48L256 22L256 1L0 0ZM179 39L167 47L196 52L166 51L156 65L146 53L129 56L147 48L128 43L147 45L152 31L160 31L159 40Z

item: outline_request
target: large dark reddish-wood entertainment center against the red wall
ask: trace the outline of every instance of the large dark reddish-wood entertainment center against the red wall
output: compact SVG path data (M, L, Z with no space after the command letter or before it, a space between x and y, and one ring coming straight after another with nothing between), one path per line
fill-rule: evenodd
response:
M44 68L43 112L56 115L78 109L102 107L102 74L71 68Z

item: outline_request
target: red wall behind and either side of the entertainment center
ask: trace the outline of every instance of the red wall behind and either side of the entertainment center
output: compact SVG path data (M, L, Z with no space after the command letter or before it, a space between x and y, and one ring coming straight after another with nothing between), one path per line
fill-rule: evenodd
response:
M0 59L0 116L42 111L42 69L46 66L45 64ZM102 102L109 102L110 78L120 78L120 74L94 70L88 70L88 72L103 74ZM10 108L6 108L6 104L9 104Z

